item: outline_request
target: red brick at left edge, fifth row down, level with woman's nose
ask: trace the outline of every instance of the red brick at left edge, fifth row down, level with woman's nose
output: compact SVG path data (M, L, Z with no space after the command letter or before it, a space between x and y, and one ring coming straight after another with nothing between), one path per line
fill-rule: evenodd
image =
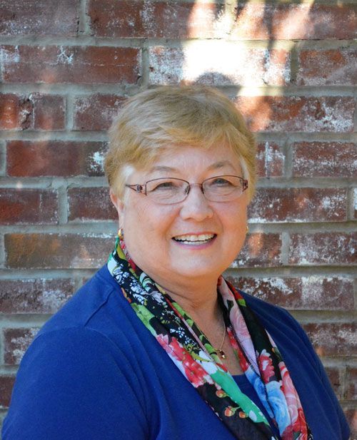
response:
M0 188L0 224L56 224L56 191Z

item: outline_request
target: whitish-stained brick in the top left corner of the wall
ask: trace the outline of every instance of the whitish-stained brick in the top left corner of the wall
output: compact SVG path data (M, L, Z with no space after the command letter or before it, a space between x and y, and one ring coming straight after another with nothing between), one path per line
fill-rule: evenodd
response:
M1 35L76 36L79 0L0 0Z

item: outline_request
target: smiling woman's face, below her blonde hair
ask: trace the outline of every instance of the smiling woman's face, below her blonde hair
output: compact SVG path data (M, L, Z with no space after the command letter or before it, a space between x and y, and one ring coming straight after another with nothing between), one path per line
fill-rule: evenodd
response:
M169 177L202 183L216 175L243 177L239 160L230 148L183 146L168 149L150 169L134 171L127 183L144 184ZM159 205L129 188L124 201L113 193L111 198L132 259L169 290L170 283L177 285L180 280L217 279L241 250L246 237L246 192L233 201L211 202L199 186L193 186L186 200L173 205ZM199 235L208 236L208 242L182 242L203 238ZM175 240L180 237L181 242Z

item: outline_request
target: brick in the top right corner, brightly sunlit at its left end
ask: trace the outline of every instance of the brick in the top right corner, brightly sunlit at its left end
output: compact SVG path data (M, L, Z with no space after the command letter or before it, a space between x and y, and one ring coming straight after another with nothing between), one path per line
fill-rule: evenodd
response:
M242 3L236 8L231 39L314 40L353 39L356 8L353 4Z

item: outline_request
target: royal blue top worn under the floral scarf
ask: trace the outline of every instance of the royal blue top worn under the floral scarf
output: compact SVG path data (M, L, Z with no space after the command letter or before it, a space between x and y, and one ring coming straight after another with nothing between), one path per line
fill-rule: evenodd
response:
M341 406L303 329L286 310L244 297L283 355L313 439L347 440ZM256 401L245 379L236 380ZM233 440L105 266L36 335L2 434L3 440Z

